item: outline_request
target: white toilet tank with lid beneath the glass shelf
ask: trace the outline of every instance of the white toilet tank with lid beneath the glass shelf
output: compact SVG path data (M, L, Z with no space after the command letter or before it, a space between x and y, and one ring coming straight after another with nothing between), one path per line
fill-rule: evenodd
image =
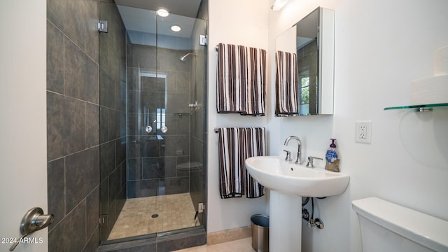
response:
M351 202L363 252L448 252L448 221L369 197Z

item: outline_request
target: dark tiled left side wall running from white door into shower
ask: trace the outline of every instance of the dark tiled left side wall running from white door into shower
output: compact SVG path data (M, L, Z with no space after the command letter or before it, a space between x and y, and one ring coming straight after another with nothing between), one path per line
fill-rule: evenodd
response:
M109 6L115 7L113 1ZM109 209L113 200L119 206L116 199L125 198L125 127L120 123L125 116L120 81L125 79L125 36L116 8L108 11L114 14L109 16L113 38L108 39L106 61L117 65L110 69L103 67L104 55L99 59L100 2L47 1L48 211L55 214L49 251L97 250L99 198L105 194L99 189L100 166L109 169L107 183L122 186L107 192ZM110 76L102 83L111 87L106 97L100 96L99 75ZM101 123L100 110L106 111ZM108 130L100 132L100 124ZM100 155L102 148L110 148L109 155Z

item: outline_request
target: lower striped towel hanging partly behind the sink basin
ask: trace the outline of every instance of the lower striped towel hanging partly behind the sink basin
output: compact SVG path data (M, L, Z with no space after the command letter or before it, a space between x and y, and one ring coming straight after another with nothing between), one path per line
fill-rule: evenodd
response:
M248 174L244 161L266 155L264 127L220 128L219 179L222 199L230 197L255 198L265 195L265 188Z

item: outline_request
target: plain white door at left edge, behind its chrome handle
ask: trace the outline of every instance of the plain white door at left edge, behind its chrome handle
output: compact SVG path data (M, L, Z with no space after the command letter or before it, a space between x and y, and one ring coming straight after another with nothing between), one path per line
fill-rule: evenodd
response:
M45 3L0 1L0 251L22 236L29 209L48 213ZM15 251L48 251L48 228L30 237Z

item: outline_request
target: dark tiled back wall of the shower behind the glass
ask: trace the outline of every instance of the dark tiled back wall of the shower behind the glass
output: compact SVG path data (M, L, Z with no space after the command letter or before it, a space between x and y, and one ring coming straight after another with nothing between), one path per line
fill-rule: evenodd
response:
M158 48L156 60L154 46L129 43L127 53L127 197L188 193L189 173L177 168L190 161L186 51ZM157 109L165 109L166 133L153 123Z

